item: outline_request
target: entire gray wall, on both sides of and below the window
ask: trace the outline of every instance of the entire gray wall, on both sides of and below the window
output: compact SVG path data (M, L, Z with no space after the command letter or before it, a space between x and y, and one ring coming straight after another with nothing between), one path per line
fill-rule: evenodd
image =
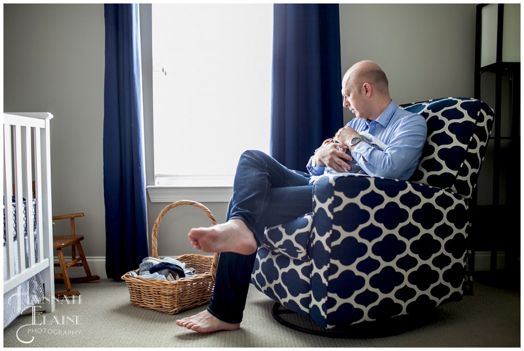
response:
M377 62L399 104L473 96L474 4L341 4L340 17L343 71L356 61ZM86 214L78 231L88 236L88 256L105 256L103 87L103 4L4 5L4 111L54 115L53 213ZM148 203L149 233L166 205ZM224 220L226 203L204 205ZM191 207L168 212L159 254L195 253L186 233L208 223Z

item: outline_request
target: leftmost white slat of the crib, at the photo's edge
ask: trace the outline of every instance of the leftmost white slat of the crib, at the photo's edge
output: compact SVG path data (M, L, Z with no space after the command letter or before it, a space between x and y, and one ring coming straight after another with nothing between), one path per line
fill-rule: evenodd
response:
M11 151L11 126L4 124L4 210L5 210L5 230L6 230L6 261L7 279L15 275L15 257L13 252L16 250L13 241L13 160L10 157Z

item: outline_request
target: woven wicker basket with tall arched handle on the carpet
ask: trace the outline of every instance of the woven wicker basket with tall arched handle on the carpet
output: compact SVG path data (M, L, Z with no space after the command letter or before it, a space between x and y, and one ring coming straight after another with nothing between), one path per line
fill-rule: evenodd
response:
M180 205L192 205L200 208L208 215L211 223L216 224L211 211L199 202L181 200L171 203L160 212L153 226L151 235L152 257L158 258L157 235L162 217L170 209ZM176 258L185 263L186 267L194 268L196 274L193 277L175 281L134 277L130 275L130 272L122 276L129 289L129 299L132 304L150 310L174 314L209 303L209 299L213 295L219 254L215 253L213 257L188 254ZM135 270L135 273L138 274L138 271L138 269Z

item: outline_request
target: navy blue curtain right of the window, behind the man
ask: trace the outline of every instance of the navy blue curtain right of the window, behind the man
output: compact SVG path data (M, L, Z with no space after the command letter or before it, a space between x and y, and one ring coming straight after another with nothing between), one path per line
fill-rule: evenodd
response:
M338 4L275 4L270 153L305 171L342 127Z

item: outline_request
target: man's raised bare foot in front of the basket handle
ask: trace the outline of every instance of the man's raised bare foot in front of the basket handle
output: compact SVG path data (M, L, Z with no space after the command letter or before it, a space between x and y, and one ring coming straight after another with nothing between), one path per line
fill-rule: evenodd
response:
M193 228L188 234L191 244L204 252L236 252L250 255L257 251L253 232L241 219L230 219L208 228Z

